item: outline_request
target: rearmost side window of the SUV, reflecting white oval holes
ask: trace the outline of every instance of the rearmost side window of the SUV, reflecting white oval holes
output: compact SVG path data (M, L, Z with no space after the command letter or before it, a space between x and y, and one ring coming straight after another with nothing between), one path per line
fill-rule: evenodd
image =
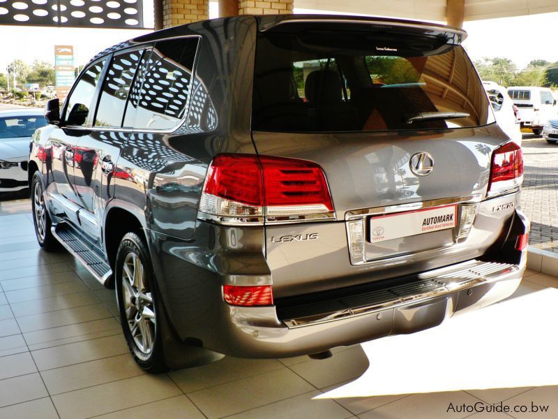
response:
M164 130L179 124L190 96L197 43L198 38L156 43L146 62L144 75L138 78L142 79L138 80L142 81L140 97L130 96L126 126L132 124L139 129ZM133 87L133 94L135 90Z

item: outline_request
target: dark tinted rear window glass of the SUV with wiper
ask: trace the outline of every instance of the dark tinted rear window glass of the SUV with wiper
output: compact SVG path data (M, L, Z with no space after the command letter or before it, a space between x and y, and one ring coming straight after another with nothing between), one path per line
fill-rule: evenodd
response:
M462 47L349 31L258 35L254 130L461 128L491 118Z

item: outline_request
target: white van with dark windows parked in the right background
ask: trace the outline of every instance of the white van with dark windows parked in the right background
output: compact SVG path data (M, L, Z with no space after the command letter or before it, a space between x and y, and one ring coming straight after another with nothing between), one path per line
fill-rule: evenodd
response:
M529 128L535 135L541 135L546 122L557 117L556 100L548 87L511 86L508 95L519 108L521 128Z

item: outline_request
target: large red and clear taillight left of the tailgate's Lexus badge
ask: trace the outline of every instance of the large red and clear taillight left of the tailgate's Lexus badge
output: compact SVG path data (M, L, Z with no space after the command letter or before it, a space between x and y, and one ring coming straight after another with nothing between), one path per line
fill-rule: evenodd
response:
M247 219L333 214L324 171L282 157L220 154L211 162L199 211Z

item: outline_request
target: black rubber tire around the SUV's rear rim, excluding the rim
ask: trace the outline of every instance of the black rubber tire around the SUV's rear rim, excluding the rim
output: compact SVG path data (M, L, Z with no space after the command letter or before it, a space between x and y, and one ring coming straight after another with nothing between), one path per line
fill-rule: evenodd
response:
M135 341L130 332L128 326L128 321L126 319L126 314L123 309L123 294L122 294L122 268L123 263L128 253L135 253L135 255L140 258L142 265L144 265L144 274L149 291L151 291L151 297L153 298L153 305L155 309L156 323L155 323L155 339L153 344L153 351L146 357L139 348L137 348ZM118 251L116 252L116 262L114 263L114 279L116 288L116 301L118 302L118 309L120 315L120 323L122 326L122 331L124 337L126 338L126 344L130 349L135 361L140 367L146 371L158 373L167 370L165 366L163 357L163 341L161 338L161 325L160 322L163 320L163 310L159 304L158 291L156 287L156 281L154 280L153 267L151 264L151 258L149 257L149 250L145 240L138 233L127 233L124 235L120 242Z

